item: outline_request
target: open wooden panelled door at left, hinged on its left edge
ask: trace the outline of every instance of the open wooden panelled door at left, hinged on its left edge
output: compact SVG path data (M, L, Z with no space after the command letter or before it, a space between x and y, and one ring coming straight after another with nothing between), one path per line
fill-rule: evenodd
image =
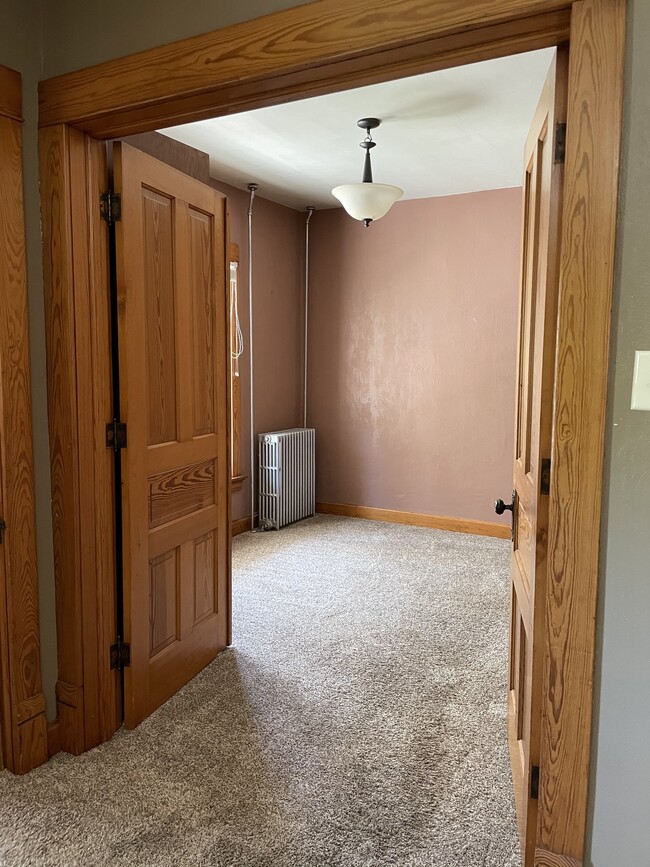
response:
M132 728L228 643L226 200L125 144L114 179Z

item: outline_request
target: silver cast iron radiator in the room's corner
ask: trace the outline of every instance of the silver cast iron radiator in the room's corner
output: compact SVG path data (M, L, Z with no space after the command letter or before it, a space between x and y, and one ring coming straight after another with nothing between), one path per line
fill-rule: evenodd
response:
M279 530L316 513L314 428L259 434L259 525Z

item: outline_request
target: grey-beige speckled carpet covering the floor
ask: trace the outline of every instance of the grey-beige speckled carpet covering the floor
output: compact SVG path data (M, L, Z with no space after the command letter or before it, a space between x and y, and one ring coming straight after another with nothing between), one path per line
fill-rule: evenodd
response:
M0 774L2 867L515 867L509 543L234 540L234 646L136 731Z

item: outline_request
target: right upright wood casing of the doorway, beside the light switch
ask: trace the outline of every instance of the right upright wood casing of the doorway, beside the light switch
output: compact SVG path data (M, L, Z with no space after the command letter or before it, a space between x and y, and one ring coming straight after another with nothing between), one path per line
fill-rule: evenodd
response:
M576 2L561 223L538 818L538 846L576 862L584 855L589 793L624 52L625 0Z

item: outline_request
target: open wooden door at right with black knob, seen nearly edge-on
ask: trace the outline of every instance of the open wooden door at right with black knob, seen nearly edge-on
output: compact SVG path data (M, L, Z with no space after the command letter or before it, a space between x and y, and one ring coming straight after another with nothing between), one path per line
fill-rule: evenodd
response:
M533 864L537 837L548 486L563 181L561 125L565 121L567 60L567 52L558 50L524 154L508 734L526 867Z

